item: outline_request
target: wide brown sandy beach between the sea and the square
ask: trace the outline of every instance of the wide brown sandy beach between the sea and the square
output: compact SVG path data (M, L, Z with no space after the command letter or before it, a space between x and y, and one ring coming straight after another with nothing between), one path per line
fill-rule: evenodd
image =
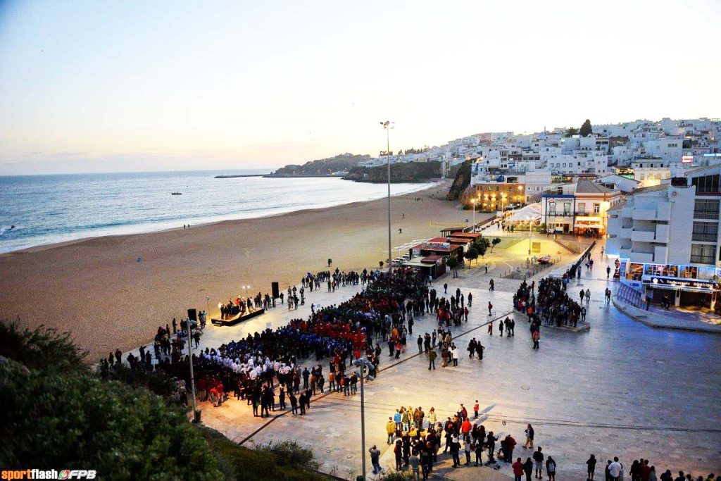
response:
M392 198L394 247L472 215L441 200L449 185ZM341 270L375 268L386 258L386 219L381 199L3 254L0 317L69 331L96 361L148 343L189 307L217 314L218 301L243 295L243 285L254 294L270 292L271 281L285 289L329 257Z

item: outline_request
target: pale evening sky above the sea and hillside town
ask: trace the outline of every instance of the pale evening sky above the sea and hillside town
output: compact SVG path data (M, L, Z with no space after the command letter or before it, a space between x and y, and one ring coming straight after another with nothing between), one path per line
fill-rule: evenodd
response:
M0 0L0 175L721 117L719 0Z

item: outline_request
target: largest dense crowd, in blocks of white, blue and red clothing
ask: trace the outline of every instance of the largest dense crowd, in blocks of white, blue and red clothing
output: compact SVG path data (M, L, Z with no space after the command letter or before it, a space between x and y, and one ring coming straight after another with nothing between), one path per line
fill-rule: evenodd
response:
M351 362L366 356L370 363L363 367L364 375L370 376L368 379L377 376L381 348L378 342L373 346L373 338L391 339L396 343L406 336L404 321L419 312L423 304L420 299L428 294L427 280L410 269L397 269L392 274L378 270L342 273L336 269L335 273L308 273L301 279L299 290L295 286L288 287L291 293L288 299L297 299L298 294L304 299L305 288L319 288L322 283L327 283L331 291L337 286L358 284L363 284L364 288L341 304L311 306L311 314L306 319L292 319L278 329L255 332L242 340L232 340L218 348L205 348L197 355L193 353L198 399L209 400L218 406L232 395L238 400L246 400L252 405L254 415L263 417L275 409L284 410L286 400L293 414L297 411L304 415L311 396L318 392L323 394L326 386L353 395L361 371L349 369ZM259 294L254 299L239 298L237 303L231 300L229 304L238 309L241 305L251 309L262 306L262 302ZM159 327L154 343L156 363L143 346L140 359L133 353L128 354L128 364L133 370L164 371L174 380L181 381L180 400L187 402L185 384L190 381L190 376L185 343L195 340L198 345L202 329L195 322L190 325L190 330L185 321L180 324L180 330L177 330L174 321L172 333L169 326ZM409 327L412 329L412 321ZM299 360L312 356L317 361L314 366L308 369L300 365ZM329 359L327 371L320 362L324 358ZM122 362L118 350L101 362L100 369L107 371Z

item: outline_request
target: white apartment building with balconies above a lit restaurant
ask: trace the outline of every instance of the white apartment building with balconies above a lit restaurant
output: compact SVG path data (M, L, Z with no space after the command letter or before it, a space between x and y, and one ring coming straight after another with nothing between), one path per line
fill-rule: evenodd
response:
M620 281L658 301L715 307L721 275L721 166L645 187L609 210L606 254Z

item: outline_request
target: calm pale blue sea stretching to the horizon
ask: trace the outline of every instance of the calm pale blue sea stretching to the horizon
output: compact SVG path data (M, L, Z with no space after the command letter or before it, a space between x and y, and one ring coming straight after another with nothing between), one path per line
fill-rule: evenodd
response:
M384 184L340 178L216 175L257 171L140 172L0 177L0 252L84 237L136 234L382 198ZM428 184L393 184L394 195ZM182 195L170 195L172 192ZM14 229L10 227L14 225Z

